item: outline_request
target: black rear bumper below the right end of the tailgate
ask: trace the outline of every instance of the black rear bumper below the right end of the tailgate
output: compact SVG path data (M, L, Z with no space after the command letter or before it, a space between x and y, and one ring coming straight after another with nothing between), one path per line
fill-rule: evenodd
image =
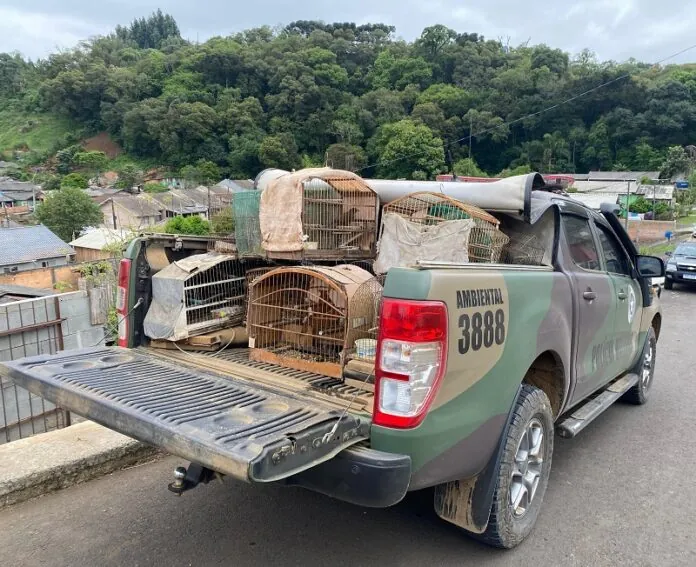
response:
M387 508L403 499L410 480L409 456L351 447L285 483L358 506Z

